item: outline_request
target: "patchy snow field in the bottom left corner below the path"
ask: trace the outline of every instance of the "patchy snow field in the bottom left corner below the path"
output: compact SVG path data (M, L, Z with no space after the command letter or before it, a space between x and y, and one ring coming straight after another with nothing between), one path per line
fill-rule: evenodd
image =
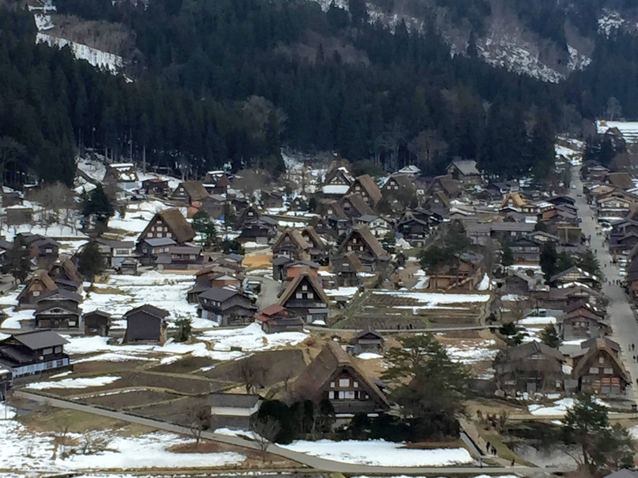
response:
M8 419L4 420L6 414ZM246 457L239 453L172 453L172 445L192 442L191 438L174 433L147 433L137 437L114 436L109 440L108 451L90 455L71 455L61 458L56 447L54 433L34 433L13 419L16 410L0 403L0 467L20 472L49 474L90 469L135 468L214 468L241 463ZM107 436L109 431L96 431L97 436ZM71 439L82 442L78 433L68 433ZM56 453L57 450L57 453Z

